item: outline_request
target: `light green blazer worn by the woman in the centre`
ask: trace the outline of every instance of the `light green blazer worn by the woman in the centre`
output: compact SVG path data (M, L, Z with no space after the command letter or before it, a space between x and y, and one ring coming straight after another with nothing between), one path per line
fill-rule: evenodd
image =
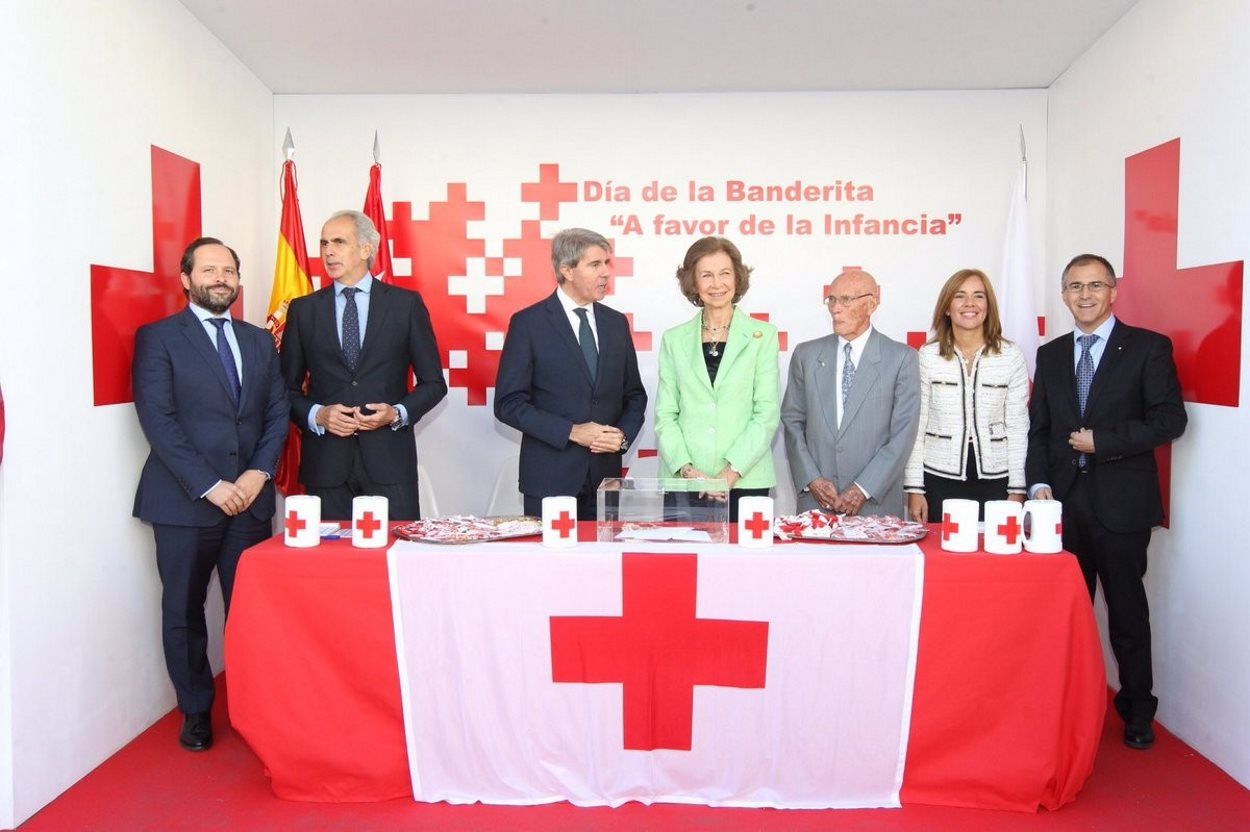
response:
M702 315L672 327L660 342L655 436L661 476L690 463L715 476L729 462L738 488L771 488L772 436L781 421L778 327L734 310L716 386L708 381Z

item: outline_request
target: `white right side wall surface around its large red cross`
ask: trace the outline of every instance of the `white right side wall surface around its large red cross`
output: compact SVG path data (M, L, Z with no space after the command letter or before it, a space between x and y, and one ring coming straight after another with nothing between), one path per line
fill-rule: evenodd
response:
M1176 137L1176 266L1250 259L1246 31L1250 5L1242 0L1142 0L1055 82L1050 286L1080 251L1102 252L1122 267L1124 159ZM1058 331L1071 329L1058 289L1048 300ZM1175 302L1186 304L1181 285ZM1186 405L1189 430L1172 450L1171 528L1151 542L1146 587L1160 721L1250 785L1250 558L1238 521L1250 468L1242 317L1241 406Z

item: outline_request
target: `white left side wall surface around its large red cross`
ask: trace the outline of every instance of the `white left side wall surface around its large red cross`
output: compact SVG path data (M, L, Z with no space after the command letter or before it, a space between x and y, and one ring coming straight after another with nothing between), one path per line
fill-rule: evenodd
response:
M151 532L130 517L146 443L132 405L92 405L90 265L152 267L158 145L200 162L204 230L239 250L260 321L276 174L269 90L178 2L9 4L0 67L12 300L0 325L9 827L174 705Z

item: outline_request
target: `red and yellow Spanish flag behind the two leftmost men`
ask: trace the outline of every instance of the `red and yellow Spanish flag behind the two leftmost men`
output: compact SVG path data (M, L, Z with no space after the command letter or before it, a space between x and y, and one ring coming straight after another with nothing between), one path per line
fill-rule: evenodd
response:
M278 262L274 266L274 290L269 295L269 317L265 327L274 336L274 346L282 350L282 331L286 329L286 309L296 297L312 292L309 279L309 256L304 242L304 221L300 219L300 200L296 194L295 162L282 165L282 225L278 232ZM292 425L286 436L286 447L278 461L274 482L285 495L302 493L300 473L300 432Z

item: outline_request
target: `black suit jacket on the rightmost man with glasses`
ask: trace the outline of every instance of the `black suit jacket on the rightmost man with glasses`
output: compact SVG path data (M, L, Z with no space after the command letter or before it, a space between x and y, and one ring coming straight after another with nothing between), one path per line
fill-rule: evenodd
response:
M1078 477L1072 431L1094 431L1086 460L1094 510L1115 532L1148 530L1162 521L1155 448L1185 432L1185 404L1171 340L1116 320L1090 385L1081 418L1076 399L1072 334L1038 349L1029 401L1030 485L1048 483L1064 501Z

